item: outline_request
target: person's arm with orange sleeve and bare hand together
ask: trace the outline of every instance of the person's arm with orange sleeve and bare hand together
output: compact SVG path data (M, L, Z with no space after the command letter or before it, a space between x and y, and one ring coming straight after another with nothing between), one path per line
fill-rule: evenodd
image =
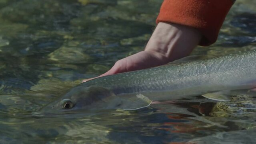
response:
M100 76L160 66L188 56L198 44L214 43L233 1L164 0L145 50L118 60Z

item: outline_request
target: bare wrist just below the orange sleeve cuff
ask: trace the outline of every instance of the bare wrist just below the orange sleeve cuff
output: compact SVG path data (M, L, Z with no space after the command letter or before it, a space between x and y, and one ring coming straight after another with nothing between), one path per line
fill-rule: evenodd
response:
M201 40L201 34L192 27L159 22L145 51L168 62L188 56Z

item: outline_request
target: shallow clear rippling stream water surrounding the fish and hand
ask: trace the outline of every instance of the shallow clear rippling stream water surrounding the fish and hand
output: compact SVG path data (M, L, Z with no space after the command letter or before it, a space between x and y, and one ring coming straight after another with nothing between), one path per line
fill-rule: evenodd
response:
M161 3L0 0L0 143L254 143L255 92L242 92L250 98L242 104L198 97L136 111L32 115L82 79L143 50ZM237 0L218 41L192 54L255 48L256 1Z

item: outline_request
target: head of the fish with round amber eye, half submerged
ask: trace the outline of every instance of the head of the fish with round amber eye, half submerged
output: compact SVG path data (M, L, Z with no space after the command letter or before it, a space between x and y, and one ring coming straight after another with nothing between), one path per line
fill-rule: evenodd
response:
M107 88L78 85L64 94L62 98L46 105L40 112L62 113L73 110L115 108L120 104L120 99Z

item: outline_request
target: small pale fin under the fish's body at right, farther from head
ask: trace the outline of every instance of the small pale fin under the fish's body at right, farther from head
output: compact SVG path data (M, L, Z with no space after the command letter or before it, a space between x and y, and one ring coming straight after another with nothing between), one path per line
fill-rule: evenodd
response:
M208 94L203 94L205 98L209 98L211 100L218 100L223 102L230 101L230 96L228 96L229 91L219 91L219 92L212 92Z

